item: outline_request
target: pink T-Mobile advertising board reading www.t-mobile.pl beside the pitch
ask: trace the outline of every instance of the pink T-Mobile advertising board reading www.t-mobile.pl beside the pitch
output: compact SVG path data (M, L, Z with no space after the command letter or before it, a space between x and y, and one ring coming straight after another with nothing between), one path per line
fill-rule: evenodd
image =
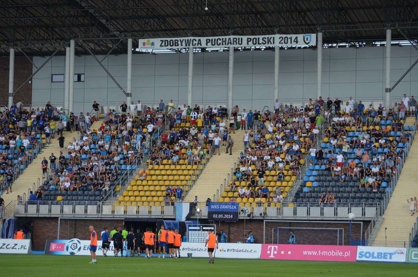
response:
M261 259L355 262L355 246L263 244Z

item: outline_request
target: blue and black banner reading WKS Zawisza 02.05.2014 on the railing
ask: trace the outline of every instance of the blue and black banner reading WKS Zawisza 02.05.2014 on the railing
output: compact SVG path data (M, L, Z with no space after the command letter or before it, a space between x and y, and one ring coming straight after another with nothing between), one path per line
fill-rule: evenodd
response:
M208 205L208 221L237 222L238 202L211 202Z

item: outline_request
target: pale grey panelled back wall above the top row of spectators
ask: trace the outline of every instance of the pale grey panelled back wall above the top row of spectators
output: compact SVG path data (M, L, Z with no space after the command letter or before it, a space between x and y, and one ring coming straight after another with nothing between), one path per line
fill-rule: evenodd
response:
M77 54L77 53L76 53ZM103 56L98 56L102 59ZM385 47L323 49L322 97L339 97L382 103L385 91ZM418 58L411 46L392 47L391 81L395 83ZM41 64L46 57L33 57ZM64 56L56 56L33 78L32 103L45 106L63 104L64 83L51 83L51 74L64 73ZM274 52L237 51L234 58L234 105L241 108L272 108ZM126 89L127 55L109 55L104 66ZM33 68L33 70L35 70ZM106 75L93 57L76 56L75 74L85 74L85 82L74 84L74 110L90 111L93 101L102 106L119 106L125 95ZM228 92L228 52L194 54L193 103L225 105ZM132 101L145 104L178 105L187 102L188 54L132 55ZM282 103L306 103L316 98L316 50L280 51L279 98ZM392 101L403 94L413 95L418 85L418 69L413 69L392 92Z

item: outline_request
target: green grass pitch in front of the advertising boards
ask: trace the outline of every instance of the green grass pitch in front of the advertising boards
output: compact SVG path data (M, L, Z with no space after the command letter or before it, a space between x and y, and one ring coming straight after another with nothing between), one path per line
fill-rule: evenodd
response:
M0 255L2 276L412 276L418 264L337 263L277 260L206 258L162 259L141 257L98 257L89 264L89 256ZM415 272L415 273L414 273Z

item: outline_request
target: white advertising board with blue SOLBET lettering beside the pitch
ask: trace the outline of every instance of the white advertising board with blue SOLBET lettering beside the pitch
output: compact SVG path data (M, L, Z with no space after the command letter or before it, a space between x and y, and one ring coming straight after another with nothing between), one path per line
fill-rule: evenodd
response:
M358 246L357 260L404 263L406 261L406 248Z

